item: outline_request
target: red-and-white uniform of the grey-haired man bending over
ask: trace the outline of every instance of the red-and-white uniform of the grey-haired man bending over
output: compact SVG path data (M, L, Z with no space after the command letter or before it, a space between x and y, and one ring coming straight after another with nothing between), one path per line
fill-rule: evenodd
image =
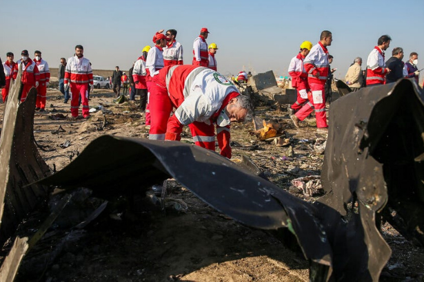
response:
M192 131L197 146L215 150L214 122L228 102L239 96L227 78L207 67L165 67L153 78L150 109L150 139L180 140L184 125ZM176 108L170 118L172 108ZM230 126L217 126L221 155L231 158Z

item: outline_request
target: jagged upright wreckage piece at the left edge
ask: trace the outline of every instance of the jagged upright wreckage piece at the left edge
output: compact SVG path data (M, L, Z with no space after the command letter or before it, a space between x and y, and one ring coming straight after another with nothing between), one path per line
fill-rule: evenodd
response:
M17 81L21 81L19 67ZM33 183L50 175L34 142L34 109L37 90L30 89L20 102L21 83L11 82L0 135L0 242L13 238L28 213L48 198L48 186ZM26 186L26 187L24 187ZM0 281L12 281L28 250L28 238L16 238L0 269Z

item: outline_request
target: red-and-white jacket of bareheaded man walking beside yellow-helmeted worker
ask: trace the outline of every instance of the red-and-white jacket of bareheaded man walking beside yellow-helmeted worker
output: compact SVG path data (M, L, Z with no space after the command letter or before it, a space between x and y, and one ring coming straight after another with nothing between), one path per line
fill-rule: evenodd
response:
M328 76L328 50L321 42L314 45L311 51L303 61L306 72L308 73L308 83L324 84L327 82ZM315 75L319 73L319 77Z

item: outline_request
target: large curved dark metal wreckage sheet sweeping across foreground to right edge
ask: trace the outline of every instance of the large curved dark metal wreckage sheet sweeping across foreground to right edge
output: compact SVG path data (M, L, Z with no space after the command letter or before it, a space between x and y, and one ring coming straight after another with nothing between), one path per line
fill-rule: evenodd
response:
M376 224L386 205L403 219L387 220L405 237L424 242L423 100L407 79L336 100L321 173L326 195L313 204L212 151L108 135L37 184L83 186L108 197L147 191L174 177L246 226L277 230L277 236L290 230L311 263L311 281L378 281L391 254Z

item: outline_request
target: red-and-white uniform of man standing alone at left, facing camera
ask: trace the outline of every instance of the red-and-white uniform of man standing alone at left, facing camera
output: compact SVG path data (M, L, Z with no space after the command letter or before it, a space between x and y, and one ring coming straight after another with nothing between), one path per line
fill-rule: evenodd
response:
M87 58L73 56L68 58L65 67L64 84L70 83L71 94L71 114L73 117L78 116L79 95L81 94L81 103L83 104L83 117L90 116L88 107L88 85L93 86L93 72L90 61Z

